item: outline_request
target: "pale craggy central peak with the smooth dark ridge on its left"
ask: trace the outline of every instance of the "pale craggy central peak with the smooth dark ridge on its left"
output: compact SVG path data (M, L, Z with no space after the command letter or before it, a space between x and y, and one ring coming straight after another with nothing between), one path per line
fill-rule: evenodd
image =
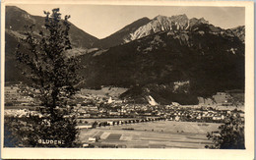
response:
M96 41L94 46L106 49L157 33L159 31L189 29L200 24L208 24L208 22L203 18L193 18L189 20L186 15L171 17L159 15L153 20L143 18L128 25L127 27L123 27L106 38Z

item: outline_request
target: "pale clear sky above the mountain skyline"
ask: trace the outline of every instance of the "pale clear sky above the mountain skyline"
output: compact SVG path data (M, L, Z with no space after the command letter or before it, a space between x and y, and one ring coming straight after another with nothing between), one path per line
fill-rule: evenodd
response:
M154 19L158 15L186 14L191 18L204 18L217 27L244 26L243 7L177 7L177 6L119 6L119 5L55 5L19 4L17 7L35 16L44 16L43 11L60 8L62 15L70 15L70 22L84 31L104 38L143 17Z

